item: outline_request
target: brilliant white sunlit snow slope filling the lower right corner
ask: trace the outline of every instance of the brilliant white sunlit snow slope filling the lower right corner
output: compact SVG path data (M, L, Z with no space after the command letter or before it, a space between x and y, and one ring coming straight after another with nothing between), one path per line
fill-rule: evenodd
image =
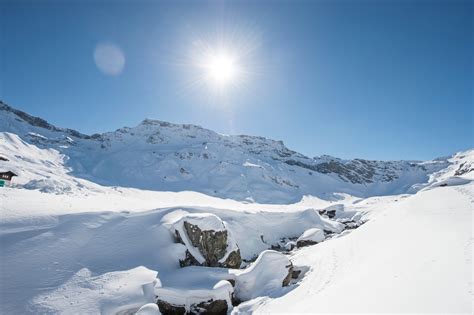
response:
M473 184L380 202L365 225L290 259L311 266L276 299L234 310L257 313L444 313L473 311Z

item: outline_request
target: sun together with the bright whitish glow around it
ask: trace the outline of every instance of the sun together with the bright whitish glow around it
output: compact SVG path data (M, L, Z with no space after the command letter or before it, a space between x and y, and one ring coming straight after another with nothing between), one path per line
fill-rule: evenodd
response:
M191 45L185 48L184 59L178 60L185 80L180 93L228 107L255 88L255 77L262 69L256 54L260 46L256 28L222 26L207 36L190 34Z

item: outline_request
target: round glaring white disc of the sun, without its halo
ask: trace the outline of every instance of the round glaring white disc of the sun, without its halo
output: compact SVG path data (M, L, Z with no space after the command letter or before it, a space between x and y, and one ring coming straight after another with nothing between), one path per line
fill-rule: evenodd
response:
M204 69L208 80L217 87L224 87L235 82L239 72L236 58L226 52L208 56Z

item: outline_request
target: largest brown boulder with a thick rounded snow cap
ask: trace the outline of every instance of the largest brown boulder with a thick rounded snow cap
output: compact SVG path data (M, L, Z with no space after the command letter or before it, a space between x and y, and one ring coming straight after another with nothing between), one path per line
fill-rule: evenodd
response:
M240 250L226 224L210 213L187 213L172 224L177 239L186 246L181 266L239 268Z

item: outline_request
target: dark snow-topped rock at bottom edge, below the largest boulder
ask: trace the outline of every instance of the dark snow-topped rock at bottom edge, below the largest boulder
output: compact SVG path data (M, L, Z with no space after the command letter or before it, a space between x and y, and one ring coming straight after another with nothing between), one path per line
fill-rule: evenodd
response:
M234 288L221 280L212 289L185 290L156 287L156 303L162 314L227 314Z

